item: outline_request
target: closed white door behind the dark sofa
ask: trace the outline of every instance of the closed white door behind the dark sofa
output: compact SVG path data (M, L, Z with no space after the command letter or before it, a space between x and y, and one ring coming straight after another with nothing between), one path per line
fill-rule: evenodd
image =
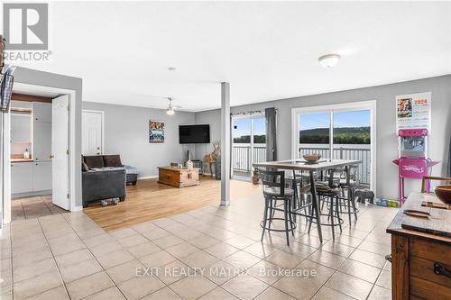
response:
M103 153L103 113L83 111L81 116L81 153L100 155Z

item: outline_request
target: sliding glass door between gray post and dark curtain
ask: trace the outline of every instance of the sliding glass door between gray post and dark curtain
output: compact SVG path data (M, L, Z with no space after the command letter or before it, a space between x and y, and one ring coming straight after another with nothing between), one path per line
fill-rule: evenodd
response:
M232 177L250 180L253 163L266 160L265 131L262 114L232 118Z

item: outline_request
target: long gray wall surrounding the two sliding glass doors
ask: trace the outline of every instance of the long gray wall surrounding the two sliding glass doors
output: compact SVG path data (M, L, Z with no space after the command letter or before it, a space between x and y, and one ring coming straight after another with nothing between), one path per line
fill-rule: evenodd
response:
M234 85L231 84L233 90ZM440 160L433 168L433 175L446 174L447 151L451 135L451 75L412 80L385 86L372 86L322 95L307 95L290 99L264 102L254 105L232 107L232 114L265 107L277 107L279 159L291 158L291 109L315 105L336 105L341 103L377 101L377 191L382 197L396 198L398 193L397 168L391 162L398 157L396 136L395 96L419 92L432 92L432 132L429 137L429 157ZM220 110L196 114L196 123L211 125L212 141L220 134ZM217 137L217 138L216 138ZM196 146L197 158L212 149L211 145ZM406 193L419 190L419 181L407 184Z

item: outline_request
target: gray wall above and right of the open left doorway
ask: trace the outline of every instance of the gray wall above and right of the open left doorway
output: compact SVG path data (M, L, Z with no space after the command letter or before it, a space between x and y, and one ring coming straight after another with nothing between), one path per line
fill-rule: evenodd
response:
M75 102L70 102L70 110L75 112L75 137L71 149L76 166L79 166L78 158L81 155L81 102L82 102L82 80L77 77L69 77L55 73L38 71L31 68L17 68L14 72L14 82L34 86L50 86L62 89L74 90L76 92ZM75 188L70 191L75 197L75 205L81 206L81 168L75 168Z

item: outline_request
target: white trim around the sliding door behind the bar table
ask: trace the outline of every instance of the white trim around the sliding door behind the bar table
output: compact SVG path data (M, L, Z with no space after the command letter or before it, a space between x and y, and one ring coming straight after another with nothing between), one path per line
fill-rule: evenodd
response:
M377 191L377 134L376 134L376 100L348 102L337 105L318 105L308 107L296 107L291 109L291 159L296 159L298 155L298 129L299 129L299 114L319 113L319 112L342 112L349 110L367 110L371 111L371 188L374 193ZM332 121L332 120L331 120ZM332 126L331 126L332 127Z

